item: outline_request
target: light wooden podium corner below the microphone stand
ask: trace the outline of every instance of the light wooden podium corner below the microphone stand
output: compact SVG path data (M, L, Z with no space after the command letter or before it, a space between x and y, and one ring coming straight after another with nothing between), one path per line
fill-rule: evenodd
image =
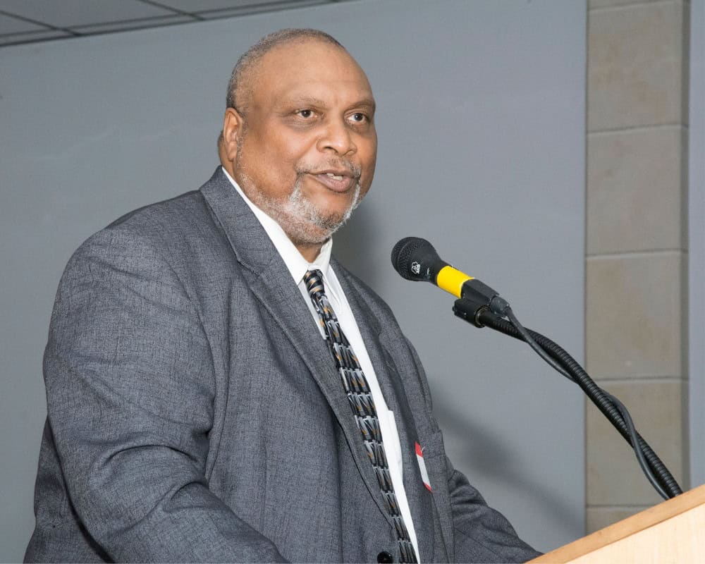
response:
M705 485L556 548L531 563L705 563Z

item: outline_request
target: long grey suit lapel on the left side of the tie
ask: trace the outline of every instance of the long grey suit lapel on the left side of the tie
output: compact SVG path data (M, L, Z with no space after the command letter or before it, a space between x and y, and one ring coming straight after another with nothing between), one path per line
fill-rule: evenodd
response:
M360 440L350 402L302 295L261 223L217 168L201 192L243 265L252 293L281 326L311 372L340 424L364 484L389 519L379 483ZM390 520L390 525L393 526Z

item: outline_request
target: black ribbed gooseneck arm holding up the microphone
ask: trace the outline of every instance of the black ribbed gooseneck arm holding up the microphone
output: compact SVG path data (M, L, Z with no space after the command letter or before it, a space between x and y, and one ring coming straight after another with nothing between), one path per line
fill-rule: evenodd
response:
M460 300L458 300L460 301ZM463 316L460 316L463 317ZM477 319L471 322L479 324L479 326L486 325L491 327L491 329L496 329L496 331L501 331L506 335L512 336L520 341L523 341L522 333L505 319L500 319L492 312L488 310L480 310L477 312ZM467 317L465 317L467 319ZM470 319L468 319L470 321ZM568 370L570 374L573 374L573 380L575 383L582 388L582 390L587 394L590 400L598 407L598 409L603 412L603 414L609 419L613 424L615 429L624 437L627 443L632 445L632 438L630 437L630 429L624 421L620 410L618 407L613 405L611 399L608 397L606 392L604 392L595 382L590 378L587 372L578 364L575 359L573 359L563 348L551 341L551 339L532 331L531 329L526 329L530 336L534 339L540 347L548 353L553 359L557 360L565 369ZM642 450L644 458L648 462L649 467L654 472L654 477L658 484L661 484L664 491L668 497L675 497L682 493L678 482L675 481L673 475L668 472L666 466L658 458L654 450L651 449L649 443L644 441L644 438L637 432L635 434L636 443L639 449Z

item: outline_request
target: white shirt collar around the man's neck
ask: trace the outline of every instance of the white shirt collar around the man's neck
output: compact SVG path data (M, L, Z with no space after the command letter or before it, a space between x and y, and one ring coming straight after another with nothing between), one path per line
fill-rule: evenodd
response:
M259 209L259 207L252 203L250 198L248 198L245 195L245 192L243 192L243 189L240 188L238 183L236 183L233 177L230 176L228 171L226 171L225 167L221 166L221 168L223 169L223 173L225 173L226 178L230 180L233 188L238 191L240 197L245 200L245 204L247 204L247 206L252 210L252 213L255 214L255 217L257 217L259 223L262 223L264 231L266 231L266 234L271 239L272 244L276 248L279 255L281 255L281 258L283 259L284 264L286 264L286 268L290 272L291 276L294 278L296 285L298 286L298 284L302 281L306 271L314 269L320 270L323 273L324 282L327 281L329 278L329 266L331 263L333 239L329 239L326 243L324 243L323 247L321 247L321 252L319 252L318 256L314 259L314 262L308 262L291 242L290 238L288 238L288 235L284 233L281 226L273 218L263 212L262 209Z

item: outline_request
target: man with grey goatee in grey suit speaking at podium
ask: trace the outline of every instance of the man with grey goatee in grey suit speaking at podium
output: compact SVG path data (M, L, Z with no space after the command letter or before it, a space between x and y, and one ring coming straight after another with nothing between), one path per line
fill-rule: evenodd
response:
M233 71L212 178L71 258L27 560L537 556L450 465L415 351L331 257L374 109L335 39L267 36Z

